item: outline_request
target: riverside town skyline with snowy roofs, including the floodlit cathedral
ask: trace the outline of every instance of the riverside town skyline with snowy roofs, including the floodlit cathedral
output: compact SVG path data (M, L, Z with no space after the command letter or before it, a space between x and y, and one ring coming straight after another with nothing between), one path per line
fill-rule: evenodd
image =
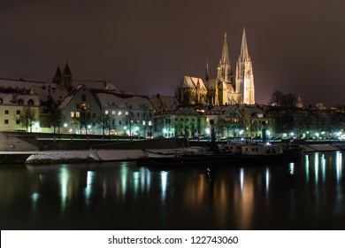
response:
M344 128L344 109L257 105L245 30L235 74L227 37L217 78L183 76L175 96L141 96L111 81L73 79L66 63L51 81L0 77L0 131L103 136L321 136ZM305 121L308 120L308 121ZM265 127L265 134L263 133Z

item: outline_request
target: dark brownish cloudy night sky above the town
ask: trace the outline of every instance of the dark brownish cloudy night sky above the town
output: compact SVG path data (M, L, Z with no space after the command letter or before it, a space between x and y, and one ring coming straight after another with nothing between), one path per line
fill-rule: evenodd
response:
M294 93L307 105L345 104L342 0L1 1L0 74L73 76L173 95L184 75L216 76L226 31L233 65L246 28L256 100ZM5 3L4 3L5 2Z

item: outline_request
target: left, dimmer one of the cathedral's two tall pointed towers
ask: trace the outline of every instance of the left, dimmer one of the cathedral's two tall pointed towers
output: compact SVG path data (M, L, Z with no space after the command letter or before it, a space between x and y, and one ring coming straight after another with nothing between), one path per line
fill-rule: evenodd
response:
M224 33L222 56L220 58L219 66L217 69L218 69L218 76L217 76L218 80L232 83L233 70L232 70L231 61L229 58L229 50L227 48L226 32Z

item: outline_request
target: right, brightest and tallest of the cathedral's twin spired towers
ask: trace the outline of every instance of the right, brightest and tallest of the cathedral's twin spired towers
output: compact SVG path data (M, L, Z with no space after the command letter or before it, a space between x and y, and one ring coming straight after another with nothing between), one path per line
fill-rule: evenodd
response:
M246 30L243 28L241 55L236 65L236 95L238 104L254 105L255 88L253 67L248 52Z

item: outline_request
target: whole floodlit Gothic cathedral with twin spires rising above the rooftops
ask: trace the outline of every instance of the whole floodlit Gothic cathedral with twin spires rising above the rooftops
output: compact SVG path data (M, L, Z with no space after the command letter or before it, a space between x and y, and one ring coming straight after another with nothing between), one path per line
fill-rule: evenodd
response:
M205 79L184 76L176 89L175 97L181 105L254 105L254 76L245 29L235 74L229 58L225 33L217 78L209 79L207 63Z

